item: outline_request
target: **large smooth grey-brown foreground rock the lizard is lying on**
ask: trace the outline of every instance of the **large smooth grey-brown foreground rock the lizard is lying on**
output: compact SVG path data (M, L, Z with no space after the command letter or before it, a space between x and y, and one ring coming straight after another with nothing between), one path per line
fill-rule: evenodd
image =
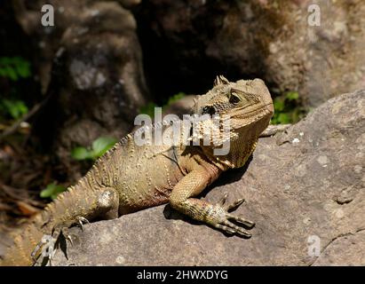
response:
M245 169L203 196L246 199L256 222L243 240L168 206L85 225L56 265L365 265L365 90L318 107L285 133L262 138ZM316 249L319 250L316 250ZM317 255L317 256L315 256Z

